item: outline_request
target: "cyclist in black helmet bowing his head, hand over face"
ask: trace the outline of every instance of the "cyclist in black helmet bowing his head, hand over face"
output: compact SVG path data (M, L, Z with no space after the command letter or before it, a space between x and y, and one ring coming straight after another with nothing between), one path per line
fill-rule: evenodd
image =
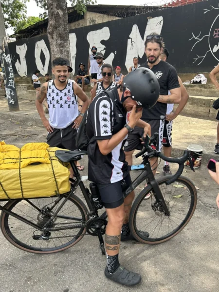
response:
M105 275L127 286L138 284L141 275L122 267L118 258L120 239L134 239L128 226L134 192L124 199L122 191L123 183L126 187L131 184L130 167L125 161L123 146L135 126L142 128L145 137L150 135L150 125L141 120L142 108L154 106L159 90L154 73L139 68L124 78L123 86L110 91L110 96L106 91L99 93L93 99L87 116L86 133L92 139L88 146L89 180L96 183L108 214ZM148 237L147 232L141 232Z

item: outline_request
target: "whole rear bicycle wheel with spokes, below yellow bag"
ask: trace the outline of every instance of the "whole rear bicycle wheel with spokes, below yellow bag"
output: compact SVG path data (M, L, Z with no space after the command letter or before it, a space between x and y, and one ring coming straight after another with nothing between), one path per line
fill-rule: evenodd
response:
M5 208L42 227L53 216L66 196L62 195L60 201L57 197L13 200L8 202ZM57 204L52 208L55 203ZM42 235L41 231L3 211L0 217L0 228L9 242L24 251L37 254L56 253L72 247L83 238L86 233L87 213L85 204L72 195L48 227L64 228L79 224L78 228L51 231Z

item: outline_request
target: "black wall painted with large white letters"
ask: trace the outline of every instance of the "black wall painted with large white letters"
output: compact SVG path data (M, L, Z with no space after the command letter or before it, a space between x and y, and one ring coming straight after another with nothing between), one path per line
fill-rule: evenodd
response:
M146 62L144 42L151 32L162 34L170 52L169 63L179 73L210 72L219 63L219 0L168 8L129 18L81 27L69 31L74 72L87 65L95 45L105 62L127 73L132 59ZM23 39L9 44L16 76L31 76L38 69L51 72L47 36Z

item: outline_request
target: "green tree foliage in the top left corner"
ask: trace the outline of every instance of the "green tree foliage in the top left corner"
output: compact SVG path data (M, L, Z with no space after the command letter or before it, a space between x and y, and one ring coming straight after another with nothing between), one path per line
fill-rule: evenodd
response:
M19 21L26 19L26 2L29 2L29 0L1 1L5 28L16 27Z

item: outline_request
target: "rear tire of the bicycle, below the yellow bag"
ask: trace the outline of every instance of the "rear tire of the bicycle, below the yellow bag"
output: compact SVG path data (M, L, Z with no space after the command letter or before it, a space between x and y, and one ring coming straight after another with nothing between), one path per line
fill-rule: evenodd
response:
M62 196L63 197L66 197L67 194L64 194ZM38 198L38 199L40 199L40 198ZM14 207L16 207L16 205L20 201L22 201L22 200L19 199L19 200L9 201L8 203L6 203L6 205L4 207L7 210L10 210L11 211ZM71 195L71 197L69 198L68 201L71 201L74 205L77 206L78 210L81 213L82 219L84 221L87 221L89 219L89 216L87 215L88 214L88 209L87 209L86 205L83 203L83 201L81 201L75 195ZM68 201L66 203L68 203ZM65 205L63 206L63 208L65 207ZM84 228L80 228L79 229L79 232L75 236L75 238L73 240L69 241L68 243L64 244L63 246L59 246L59 247L55 247L55 248L51 248L51 249L43 249L41 247L40 248L35 248L35 247L30 246L30 245L24 244L23 242L21 242L20 240L18 240L18 238L16 238L13 235L13 232L11 231L11 228L9 227L9 222L8 222L9 217L10 218L14 218L14 217L6 214L3 211L1 212L1 216L0 216L0 229L1 229L1 232L2 232L3 236L10 243L12 243L14 246L18 247L19 249L21 249L23 251L30 252L30 253L35 253L35 254L51 254L51 253L57 253L57 252L64 251L64 250L72 247L76 243L78 243L84 237L84 235L86 233L86 228L85 227ZM20 220L18 220L18 221L21 222ZM30 225L28 225L26 223L24 223L24 224L30 227ZM72 230L75 230L75 229L72 229Z

